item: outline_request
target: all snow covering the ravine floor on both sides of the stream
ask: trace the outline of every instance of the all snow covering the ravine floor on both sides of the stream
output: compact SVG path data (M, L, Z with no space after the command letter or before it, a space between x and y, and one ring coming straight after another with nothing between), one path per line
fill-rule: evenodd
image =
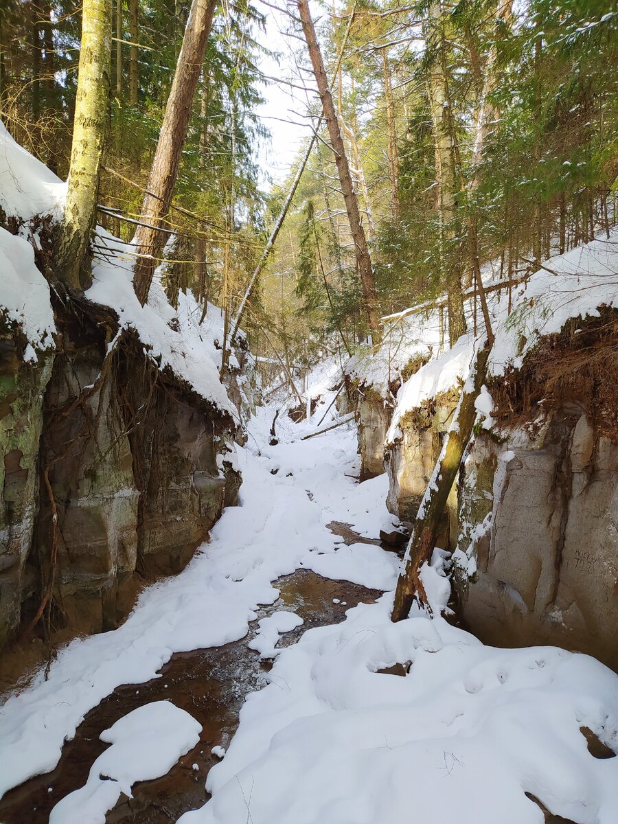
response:
M280 575L304 567L392 590L394 555L341 545L325 526L348 522L367 536L389 527L386 477L349 477L347 427L301 442L310 424L283 418L279 445L265 446L272 417L260 410L239 450L241 506L226 510L185 572L143 592L118 630L69 644L49 681L38 677L0 710L0 792L51 770L65 737L115 686L147 681L174 652L243 637L256 606L278 597L270 582ZM182 824L382 824L410 813L425 824L541 824L526 793L578 824L616 824L618 759L594 758L580 728L618 748L618 677L556 648L485 647L439 617L449 591L441 555L424 581L433 620L391 624L386 592L279 654L208 775L213 798ZM259 652L272 654L294 623L285 611L263 622ZM407 676L377 672L396 662L410 664ZM104 733L113 742L105 764L95 762L53 821L104 822L119 789L190 749L190 716L141 709Z

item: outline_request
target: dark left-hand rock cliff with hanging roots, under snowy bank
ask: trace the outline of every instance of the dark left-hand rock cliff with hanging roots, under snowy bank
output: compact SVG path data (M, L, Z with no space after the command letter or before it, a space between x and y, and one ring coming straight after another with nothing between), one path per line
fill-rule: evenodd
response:
M57 318L38 363L18 328L2 335L0 646L42 606L63 637L118 625L236 504L235 422L132 333L106 357L113 317L89 312Z

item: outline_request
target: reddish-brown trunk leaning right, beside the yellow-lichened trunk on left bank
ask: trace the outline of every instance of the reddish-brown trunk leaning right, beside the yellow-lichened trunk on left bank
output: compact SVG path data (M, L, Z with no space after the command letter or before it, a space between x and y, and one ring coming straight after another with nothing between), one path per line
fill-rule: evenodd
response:
M191 105L216 4L217 0L193 0L167 99L157 151L148 178L147 194L143 200L142 222L148 226L139 226L134 238L137 260L133 287L142 305L147 301L157 259L165 245L165 233L160 230L174 193Z

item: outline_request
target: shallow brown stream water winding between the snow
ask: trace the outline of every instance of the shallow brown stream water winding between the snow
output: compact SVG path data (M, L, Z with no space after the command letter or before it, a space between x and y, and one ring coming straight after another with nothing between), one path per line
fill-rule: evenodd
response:
M280 590L279 600L260 610L259 617L288 609L304 620L302 626L283 634L279 641L282 647L293 644L311 627L344 620L345 611L358 602L373 602L382 595L357 584L321 578L308 570L297 570L274 586ZM333 598L339 603L333 603ZM254 635L255 627L246 638L232 644L177 653L162 667L160 677L145 684L119 687L87 714L73 741L64 745L55 770L26 781L0 800L0 821L47 824L54 805L86 783L92 762L107 747L99 740L103 730L138 706L157 700L171 700L202 724L199 743L167 775L134 784L133 798L121 798L106 822L167 824L201 807L208 800L206 775L218 761L211 749L216 745L227 748L246 695L266 684L268 664L260 664L257 653L247 647ZM193 769L194 764L198 770Z

